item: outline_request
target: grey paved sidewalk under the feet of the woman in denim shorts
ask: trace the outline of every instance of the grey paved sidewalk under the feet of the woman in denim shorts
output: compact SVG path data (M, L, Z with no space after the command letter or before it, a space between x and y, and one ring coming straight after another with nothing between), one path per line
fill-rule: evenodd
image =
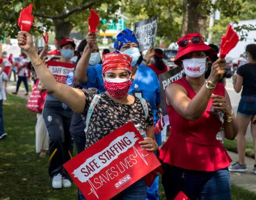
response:
M238 161L238 154L231 151L228 151L228 154L233 159L231 164ZM256 174L251 172L254 168L254 159L246 157L246 165L247 172L230 172L231 183L256 193Z

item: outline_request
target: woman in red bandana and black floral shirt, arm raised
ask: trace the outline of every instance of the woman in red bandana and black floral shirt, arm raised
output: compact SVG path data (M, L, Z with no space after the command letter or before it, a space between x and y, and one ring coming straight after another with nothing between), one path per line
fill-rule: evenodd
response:
M128 94L131 86L132 59L130 56L120 53L108 53L103 56L102 76L106 92L99 97L90 90L75 89L56 82L54 76L38 57L32 36L28 32L20 31L17 40L20 48L29 54L38 78L48 92L72 108L74 112L83 115L87 124L86 148L131 121L140 128L141 134L145 134L144 141L140 141L141 147L146 148L147 151L157 150L157 143L153 140L153 112L150 105L147 101ZM91 46L95 43L96 39L90 40ZM98 99L97 103L95 99ZM92 112L90 107L94 107ZM89 115L90 121L86 121ZM144 179L141 179L113 199L141 200L145 199L145 195L146 185Z

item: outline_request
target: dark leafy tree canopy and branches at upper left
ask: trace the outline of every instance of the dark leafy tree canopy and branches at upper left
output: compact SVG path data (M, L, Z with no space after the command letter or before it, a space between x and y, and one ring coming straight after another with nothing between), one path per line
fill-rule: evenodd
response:
M46 27L47 30L55 31L58 40L68 37L74 27L86 34L90 8L94 8L104 19L115 17L115 11L119 8L117 0L0 0L1 37L15 37L19 31L17 26L19 13L31 2L34 5L32 14L35 17L31 33L33 35L42 34L43 27ZM102 23L99 24L99 27L101 26Z

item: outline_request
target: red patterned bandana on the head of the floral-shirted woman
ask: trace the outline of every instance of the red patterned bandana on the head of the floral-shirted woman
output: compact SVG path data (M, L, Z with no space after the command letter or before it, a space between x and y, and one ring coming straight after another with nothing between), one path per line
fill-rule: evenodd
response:
M106 53L102 56L102 74L111 70L126 70L131 74L131 57L123 53Z

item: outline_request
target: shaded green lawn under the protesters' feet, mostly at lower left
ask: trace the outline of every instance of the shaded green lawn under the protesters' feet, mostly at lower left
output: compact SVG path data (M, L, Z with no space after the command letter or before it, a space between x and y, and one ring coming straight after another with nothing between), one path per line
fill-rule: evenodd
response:
M0 200L73 200L77 188L53 190L48 176L48 157L35 153L35 113L26 110L27 101L8 95L3 104L3 119L8 132L0 140ZM161 200L166 200L159 184ZM255 200L256 194L232 186L232 200Z

